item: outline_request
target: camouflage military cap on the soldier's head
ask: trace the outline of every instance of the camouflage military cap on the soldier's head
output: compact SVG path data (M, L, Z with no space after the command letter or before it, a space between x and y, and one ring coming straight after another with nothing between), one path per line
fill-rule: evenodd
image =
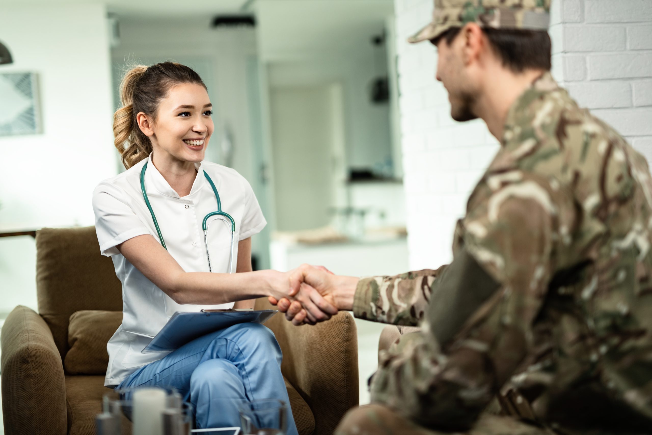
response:
M478 23L494 29L548 30L552 0L435 0L432 23L409 38L421 42L452 27Z

